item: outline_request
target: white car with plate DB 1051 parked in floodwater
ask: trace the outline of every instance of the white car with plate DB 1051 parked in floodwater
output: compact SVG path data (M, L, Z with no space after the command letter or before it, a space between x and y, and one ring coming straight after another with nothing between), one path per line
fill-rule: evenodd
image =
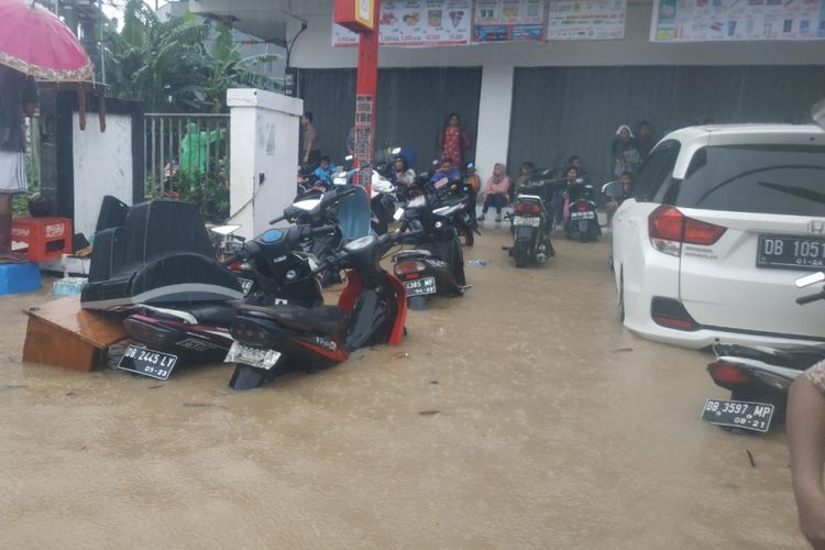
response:
M646 338L825 342L825 302L794 279L825 268L825 132L815 125L685 128L635 177L613 221L618 315Z

